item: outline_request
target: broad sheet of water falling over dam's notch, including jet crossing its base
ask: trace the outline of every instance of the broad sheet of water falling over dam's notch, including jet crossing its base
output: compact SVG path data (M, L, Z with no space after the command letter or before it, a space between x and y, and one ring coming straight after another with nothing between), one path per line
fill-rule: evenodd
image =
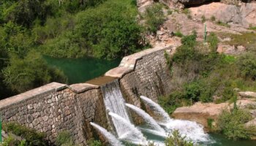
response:
M129 115L125 107L124 98L121 94L118 80L102 86L104 96L104 104L112 117L113 125L116 128L116 133L119 139L124 139L132 143L143 144L146 138L143 137L141 131L129 120Z

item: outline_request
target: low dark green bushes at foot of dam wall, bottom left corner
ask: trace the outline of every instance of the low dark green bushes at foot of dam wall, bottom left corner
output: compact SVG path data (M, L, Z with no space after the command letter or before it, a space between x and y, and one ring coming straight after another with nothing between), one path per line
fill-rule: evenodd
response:
M43 133L39 133L31 128L26 128L25 126L21 126L18 123L3 123L3 129L7 132L12 132L23 139L26 139L26 145L48 145L48 141L46 140L46 135ZM12 142L12 138L7 140L8 142ZM20 145L23 145L24 141L20 142Z

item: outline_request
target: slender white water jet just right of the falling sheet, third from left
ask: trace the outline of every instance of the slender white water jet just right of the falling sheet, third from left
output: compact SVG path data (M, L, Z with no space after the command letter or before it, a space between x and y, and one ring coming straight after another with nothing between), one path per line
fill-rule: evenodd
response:
M165 134L165 130L161 126L159 126L156 120L154 120L154 118L148 115L148 113L146 113L144 110L141 110L139 107L136 107L132 104L125 104L125 105L129 107L131 110L133 110L134 112L136 112L138 115L140 115L150 128L152 128L153 130L156 130L157 132L161 132Z

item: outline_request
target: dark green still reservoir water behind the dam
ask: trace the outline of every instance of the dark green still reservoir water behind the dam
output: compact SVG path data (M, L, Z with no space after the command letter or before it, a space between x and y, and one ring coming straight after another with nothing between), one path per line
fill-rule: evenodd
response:
M98 58L50 58L44 56L49 66L55 66L68 78L69 84L86 82L95 77L99 77L108 70L118 66L121 59L108 61Z

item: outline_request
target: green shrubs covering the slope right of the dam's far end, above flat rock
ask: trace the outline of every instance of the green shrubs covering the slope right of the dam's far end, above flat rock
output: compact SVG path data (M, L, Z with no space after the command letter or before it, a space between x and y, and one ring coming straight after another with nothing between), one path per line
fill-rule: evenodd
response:
M215 34L210 34L207 45L195 39L196 34L183 37L181 47L167 61L173 92L159 98L159 104L167 112L195 101L219 103L233 99L234 88L256 91L254 52L236 57L219 54Z

